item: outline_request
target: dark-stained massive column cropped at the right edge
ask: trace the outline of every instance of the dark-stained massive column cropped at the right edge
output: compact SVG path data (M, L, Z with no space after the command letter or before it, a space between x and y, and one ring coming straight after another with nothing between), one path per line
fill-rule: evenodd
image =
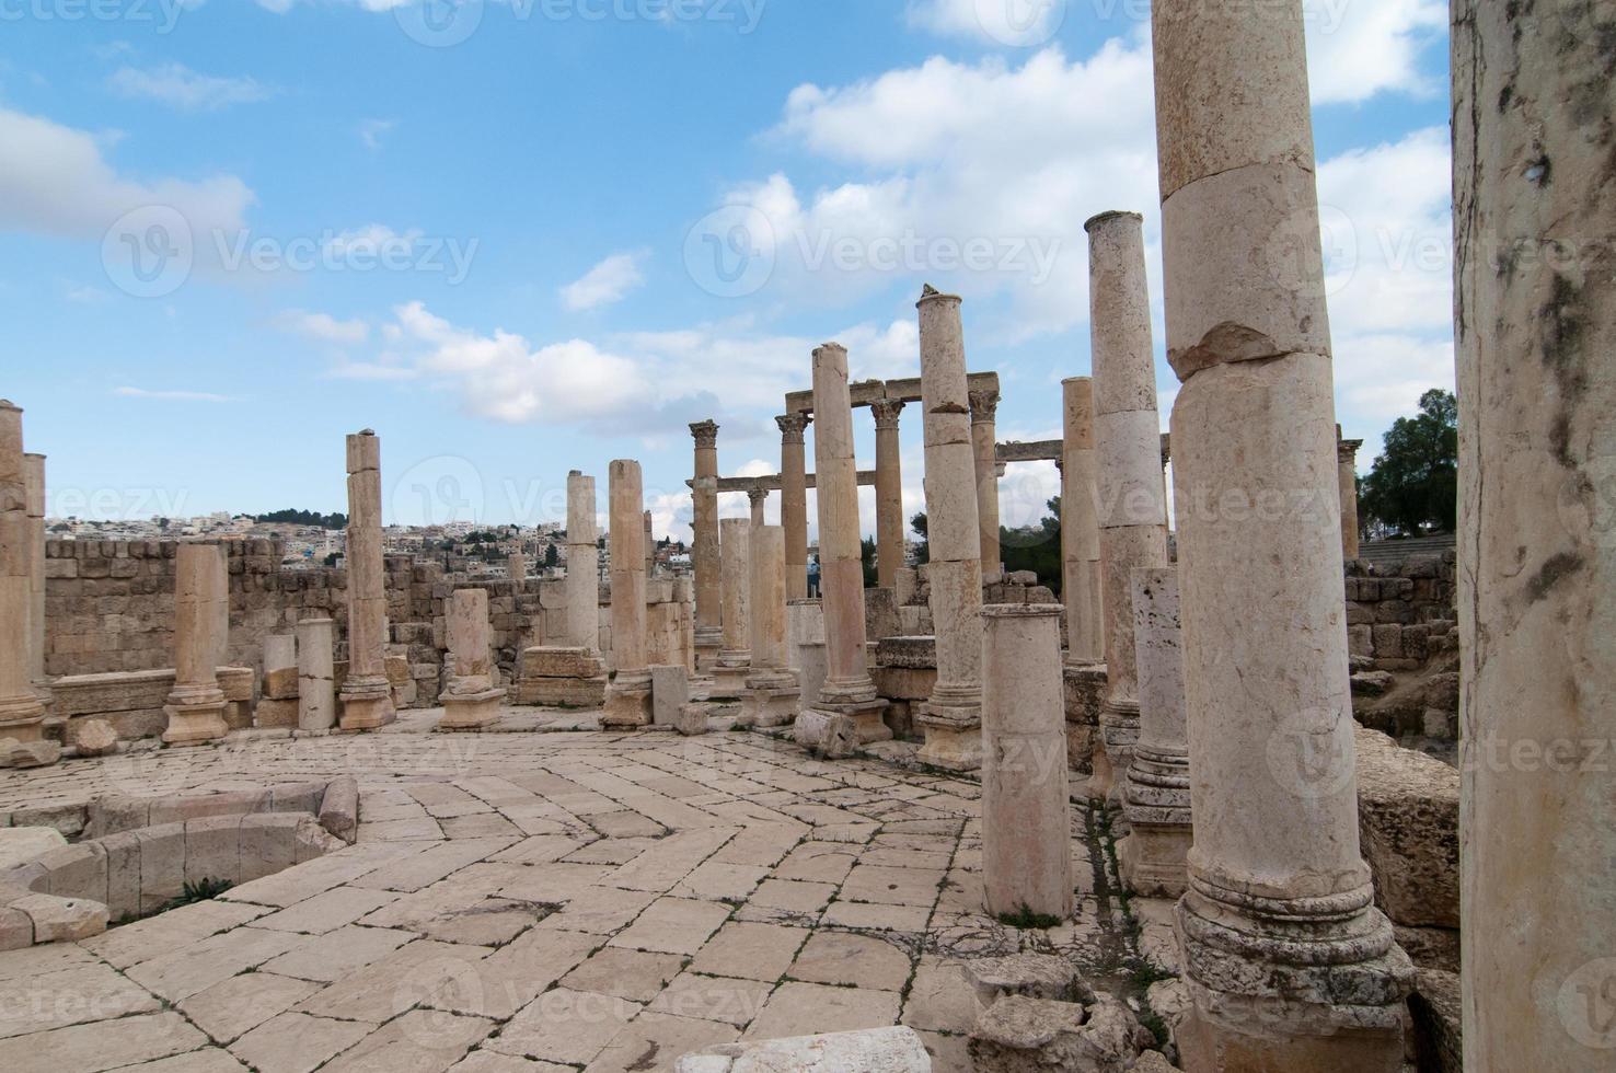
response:
M1454 0L1466 1070L1608 1070L1610 5Z

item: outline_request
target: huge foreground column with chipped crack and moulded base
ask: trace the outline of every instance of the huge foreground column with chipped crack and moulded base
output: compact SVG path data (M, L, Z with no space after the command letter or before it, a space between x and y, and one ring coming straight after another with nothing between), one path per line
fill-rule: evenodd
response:
M1391 1073L1411 965L1357 840L1302 5L1157 0L1152 26L1196 824L1180 1052Z

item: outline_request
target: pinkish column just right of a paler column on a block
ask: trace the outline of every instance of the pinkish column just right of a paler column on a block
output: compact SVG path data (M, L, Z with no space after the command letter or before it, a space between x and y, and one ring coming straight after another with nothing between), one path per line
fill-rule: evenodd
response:
M611 651L616 674L601 709L604 727L651 722L651 667L645 648L645 491L640 464L619 459L609 470Z

